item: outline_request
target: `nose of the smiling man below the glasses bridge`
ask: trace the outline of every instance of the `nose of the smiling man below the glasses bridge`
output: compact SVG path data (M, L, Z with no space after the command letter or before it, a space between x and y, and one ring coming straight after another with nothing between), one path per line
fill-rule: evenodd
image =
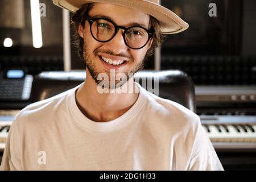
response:
M125 44L125 40L123 40L123 30L119 29L114 38L107 42L106 46L108 46L108 48L111 49L115 54L124 53L127 51L128 47Z

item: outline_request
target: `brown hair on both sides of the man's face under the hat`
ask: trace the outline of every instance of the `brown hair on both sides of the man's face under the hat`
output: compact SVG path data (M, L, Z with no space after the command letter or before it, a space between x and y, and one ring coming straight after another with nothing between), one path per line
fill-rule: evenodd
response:
M81 24L82 27L85 25L84 15L88 15L89 11L93 8L93 3L87 3L83 5L79 10L76 11L75 14L72 16L72 24L73 24L73 38L75 39L73 44L77 48L78 55L83 58L83 52L84 52L84 39L82 39L78 34L78 28ZM150 49L148 49L145 59L148 56L153 55L155 48L159 47L160 44L163 42L163 34L159 25L159 22L157 19L155 19L153 16L150 16L150 24L151 27L154 29L154 36L153 36L153 42Z

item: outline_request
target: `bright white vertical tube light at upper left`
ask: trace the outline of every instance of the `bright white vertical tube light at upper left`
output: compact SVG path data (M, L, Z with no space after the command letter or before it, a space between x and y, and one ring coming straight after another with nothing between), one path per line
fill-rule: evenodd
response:
M41 48L43 46L41 14L39 0L30 0L33 46Z

